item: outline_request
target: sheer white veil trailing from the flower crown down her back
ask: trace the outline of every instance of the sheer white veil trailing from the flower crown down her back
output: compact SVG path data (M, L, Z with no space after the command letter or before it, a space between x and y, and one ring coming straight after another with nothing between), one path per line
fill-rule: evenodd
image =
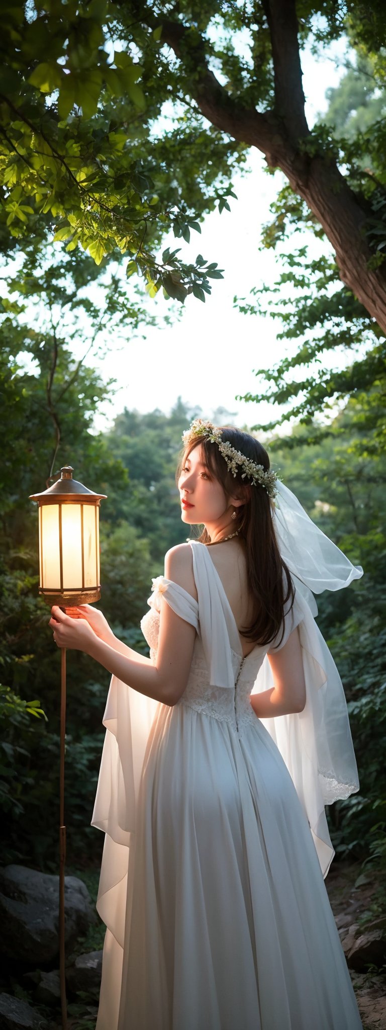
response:
M278 480L277 487L275 534L295 587L280 646L297 626L307 700L302 712L261 722L292 777L325 877L335 851L324 805L359 790L359 781L346 697L332 655L314 619L318 614L314 593L349 586L360 579L363 570L353 565L319 529L287 486ZM266 656L252 693L272 686L273 675Z

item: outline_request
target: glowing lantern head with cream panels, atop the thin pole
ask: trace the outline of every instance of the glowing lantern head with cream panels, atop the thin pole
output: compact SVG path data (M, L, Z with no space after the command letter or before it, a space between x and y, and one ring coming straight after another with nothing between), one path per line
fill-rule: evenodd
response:
M39 506L39 593L68 607L100 599L99 507L106 496L72 473L65 466L54 486L30 499Z

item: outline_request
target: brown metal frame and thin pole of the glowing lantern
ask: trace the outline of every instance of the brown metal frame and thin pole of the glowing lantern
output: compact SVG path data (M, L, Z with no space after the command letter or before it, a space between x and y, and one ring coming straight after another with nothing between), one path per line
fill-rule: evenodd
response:
M62 608L76 607L77 605L93 604L100 600L100 561L99 561L99 518L98 509L101 501L106 500L105 493L95 493L86 486L72 478L73 469L71 466L64 466L61 469L61 478L52 486L43 490L42 493L33 493L30 501L36 501L39 510L39 562L40 562L40 585L39 594L47 605L59 605ZM81 534L81 585L74 588L64 587L63 571L63 533L62 533L62 510L66 505L80 506L80 534ZM47 505L58 506L58 543L59 543L59 568L60 583L59 588L44 586L43 576L43 517L42 509ZM96 583L95 586L84 585L84 518L83 506L95 508L95 548L96 548ZM66 999L66 956L65 956L65 863L66 863L66 826L64 822L64 790L65 790L65 747L66 747L66 648L61 648L61 734L60 734L60 826L59 826L59 964L61 984L61 1006L62 1006L62 1028L67 1027L67 999Z

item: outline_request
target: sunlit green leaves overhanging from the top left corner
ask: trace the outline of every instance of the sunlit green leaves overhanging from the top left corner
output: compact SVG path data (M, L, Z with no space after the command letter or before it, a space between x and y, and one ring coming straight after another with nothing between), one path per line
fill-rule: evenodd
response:
M170 230L188 242L215 204L230 210L242 148L208 137L181 104L170 132L160 32L128 24L110 0L20 2L3 11L1 52L3 250L33 239L41 251L50 239L70 253L81 247L98 266L129 255L128 275L142 274L150 297L161 286L181 302L194 285L209 294L205 268L160 263L154 246ZM192 133L202 147L196 165ZM209 174L200 169L208 144Z

